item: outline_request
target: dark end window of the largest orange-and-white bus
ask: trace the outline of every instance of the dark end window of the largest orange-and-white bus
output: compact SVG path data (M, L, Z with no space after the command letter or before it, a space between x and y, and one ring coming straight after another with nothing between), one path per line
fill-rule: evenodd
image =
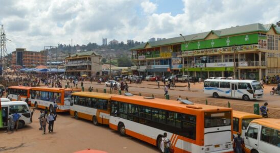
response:
M231 124L231 112L205 112L204 113L204 126L218 127L228 126Z

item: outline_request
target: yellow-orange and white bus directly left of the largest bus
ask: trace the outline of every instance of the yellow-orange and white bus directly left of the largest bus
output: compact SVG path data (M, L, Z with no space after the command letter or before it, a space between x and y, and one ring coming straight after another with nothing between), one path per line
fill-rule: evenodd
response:
M75 92L71 96L70 114L76 119L92 121L94 125L109 124L111 94Z

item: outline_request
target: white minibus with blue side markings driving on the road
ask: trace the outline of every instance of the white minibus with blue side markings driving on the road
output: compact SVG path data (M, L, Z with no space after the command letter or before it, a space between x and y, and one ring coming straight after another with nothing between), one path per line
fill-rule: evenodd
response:
M264 95L260 83L255 80L215 80L204 81L204 94L218 97L241 98L243 100L257 99Z

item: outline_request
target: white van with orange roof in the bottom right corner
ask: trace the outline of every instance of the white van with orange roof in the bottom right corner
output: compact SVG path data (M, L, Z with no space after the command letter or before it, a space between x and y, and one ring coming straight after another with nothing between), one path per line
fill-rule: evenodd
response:
M280 152L280 119L255 119L245 133L245 152Z

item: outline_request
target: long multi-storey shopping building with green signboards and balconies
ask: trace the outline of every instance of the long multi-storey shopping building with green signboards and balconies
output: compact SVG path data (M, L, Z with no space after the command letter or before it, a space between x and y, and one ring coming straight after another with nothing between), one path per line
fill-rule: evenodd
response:
M280 75L280 28L254 23L146 42L130 49L134 72L261 80ZM235 73L234 73L235 71Z

